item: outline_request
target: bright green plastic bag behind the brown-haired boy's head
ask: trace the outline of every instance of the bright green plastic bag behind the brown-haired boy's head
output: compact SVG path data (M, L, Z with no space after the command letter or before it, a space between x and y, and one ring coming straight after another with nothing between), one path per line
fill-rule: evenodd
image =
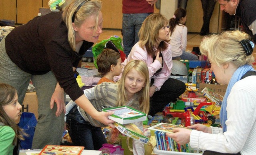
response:
M120 37L118 37L117 35L112 35L110 38L104 39L104 40L100 41L100 43L96 43L96 45L94 45L94 47L92 47L92 54L94 57L94 66L96 67L96 69L98 69L97 57L105 48L106 43L110 40L112 41L112 43L114 43L114 45L116 46L116 48L118 50L124 51L124 49L122 47L122 39Z

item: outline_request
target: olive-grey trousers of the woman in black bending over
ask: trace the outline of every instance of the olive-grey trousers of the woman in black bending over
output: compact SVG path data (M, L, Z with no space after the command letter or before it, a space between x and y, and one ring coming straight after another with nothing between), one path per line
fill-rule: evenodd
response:
M49 71L43 75L31 75L22 71L6 54L4 37L0 42L0 83L14 86L18 90L18 101L22 104L30 79L38 98L38 123L32 149L42 149L45 145L60 145L64 129L64 113L55 116L56 104L50 109L51 97L57 84L54 74Z

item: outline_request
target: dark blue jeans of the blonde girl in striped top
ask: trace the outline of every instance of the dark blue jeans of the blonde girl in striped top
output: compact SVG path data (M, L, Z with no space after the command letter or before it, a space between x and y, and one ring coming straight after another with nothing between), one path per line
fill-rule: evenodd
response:
M78 112L77 106L67 114L66 125L72 145L84 146L84 149L88 150L99 150L102 144L107 143L102 129L86 122Z

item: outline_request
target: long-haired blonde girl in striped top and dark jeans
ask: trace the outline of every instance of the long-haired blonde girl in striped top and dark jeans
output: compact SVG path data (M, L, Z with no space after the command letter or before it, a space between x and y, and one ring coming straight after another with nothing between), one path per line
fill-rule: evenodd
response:
M118 82L103 82L94 88L84 90L84 94L98 111L102 111L102 108L126 105L148 114L150 87L148 74L146 63L132 60L124 67ZM91 150L100 149L102 144L107 143L100 128L105 125L94 120L75 104L70 101L66 105L66 112L69 112L66 124L73 145L84 146L85 149ZM73 108L70 110L70 107ZM143 131L142 122L135 124ZM134 155L143 155L144 152L144 144L133 140Z

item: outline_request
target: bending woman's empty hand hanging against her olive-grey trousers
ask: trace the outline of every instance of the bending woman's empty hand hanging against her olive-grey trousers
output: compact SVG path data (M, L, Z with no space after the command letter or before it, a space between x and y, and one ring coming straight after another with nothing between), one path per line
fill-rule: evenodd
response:
M54 93L52 94L50 108L54 106L54 102L57 104L56 117L60 116L62 111L66 113L65 102L64 102L64 89L60 87L59 83L56 84Z

